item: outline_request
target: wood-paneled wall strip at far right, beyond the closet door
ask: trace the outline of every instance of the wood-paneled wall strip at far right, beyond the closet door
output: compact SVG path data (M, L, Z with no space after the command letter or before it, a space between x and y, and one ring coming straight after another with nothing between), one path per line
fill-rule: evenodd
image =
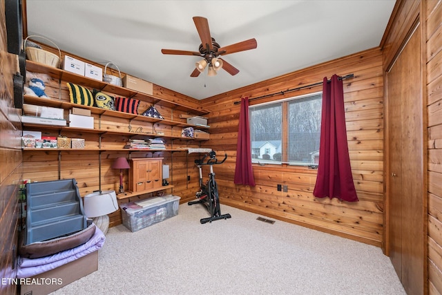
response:
M424 1L428 137L428 289L442 294L442 1Z

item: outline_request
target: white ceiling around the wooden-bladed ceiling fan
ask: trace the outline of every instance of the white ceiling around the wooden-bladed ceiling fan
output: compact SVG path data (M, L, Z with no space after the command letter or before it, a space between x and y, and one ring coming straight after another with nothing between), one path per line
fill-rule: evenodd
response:
M379 46L395 0L65 1L27 0L28 35L196 99L204 99ZM222 57L240 73L190 77L200 57L192 17L209 20L227 46L256 38L258 48ZM44 40L41 40L44 41ZM46 43L46 42L44 42ZM331 75L333 73L330 73Z

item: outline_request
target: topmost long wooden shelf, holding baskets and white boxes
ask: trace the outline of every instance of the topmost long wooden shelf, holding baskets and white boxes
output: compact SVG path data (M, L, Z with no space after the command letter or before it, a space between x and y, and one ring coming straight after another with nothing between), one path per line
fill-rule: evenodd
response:
M52 68L50 66L46 66L45 64L40 64L35 61L26 60L26 70L29 70L30 72L44 73L52 78L68 81L74 84L81 84L81 86L85 86L87 88L95 88L100 91L115 93L124 97L134 97L144 102L158 104L167 108L180 111L186 111L195 115L206 115L210 113L209 111L202 108L191 108L190 106L184 106L184 104L180 104L177 102L169 102L168 100L154 97L153 95L140 93L128 88L115 86L106 82L98 81L96 79L91 79L88 77L77 75L75 73L70 73L66 70L61 70L60 68Z

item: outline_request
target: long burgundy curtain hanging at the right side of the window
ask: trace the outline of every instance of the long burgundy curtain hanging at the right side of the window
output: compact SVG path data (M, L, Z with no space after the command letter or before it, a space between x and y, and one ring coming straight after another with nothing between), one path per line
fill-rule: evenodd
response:
M313 194L316 198L339 198L357 202L345 128L343 82L333 75L323 81L323 108L320 127L318 178Z

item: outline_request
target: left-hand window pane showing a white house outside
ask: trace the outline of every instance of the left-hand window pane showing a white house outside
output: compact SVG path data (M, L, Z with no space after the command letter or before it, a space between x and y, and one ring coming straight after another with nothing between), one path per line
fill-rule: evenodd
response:
M282 104L249 107L251 161L280 164Z

